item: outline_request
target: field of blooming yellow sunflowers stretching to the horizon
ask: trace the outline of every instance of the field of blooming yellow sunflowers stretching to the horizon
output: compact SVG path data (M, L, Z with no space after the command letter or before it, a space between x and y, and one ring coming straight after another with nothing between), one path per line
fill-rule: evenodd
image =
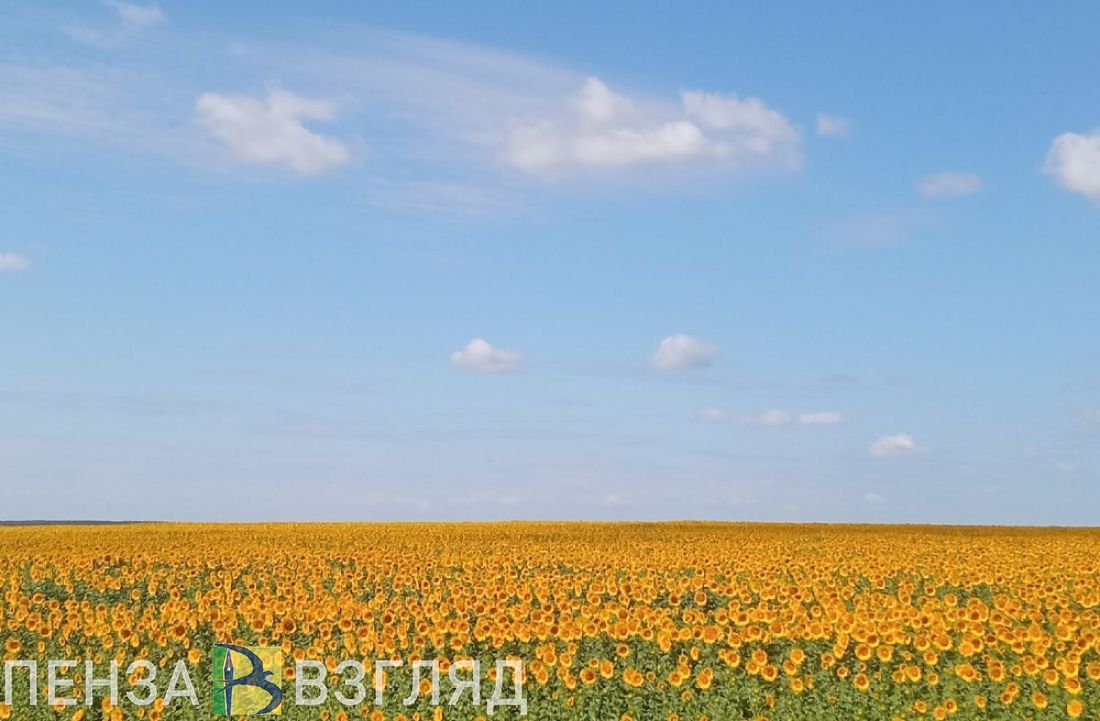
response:
M1100 532L0 528L6 659L184 659L202 700L32 708L20 704L16 681L0 721L211 718L216 642L282 646L288 662L314 658L330 669L343 658L367 668L375 658L438 658L444 668L518 658L536 721L1100 719ZM293 668L286 676L293 684ZM382 708L372 695L360 708L330 699L285 708L283 718L488 718L484 706L431 707L427 698L405 707L411 677L402 678L403 692Z

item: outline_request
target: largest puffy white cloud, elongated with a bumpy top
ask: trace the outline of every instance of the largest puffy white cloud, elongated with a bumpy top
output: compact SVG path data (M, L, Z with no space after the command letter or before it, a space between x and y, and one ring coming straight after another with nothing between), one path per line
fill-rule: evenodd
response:
M688 161L788 170L802 164L798 130L757 98L689 91L669 111L588 77L561 114L515 122L506 161L540 176Z

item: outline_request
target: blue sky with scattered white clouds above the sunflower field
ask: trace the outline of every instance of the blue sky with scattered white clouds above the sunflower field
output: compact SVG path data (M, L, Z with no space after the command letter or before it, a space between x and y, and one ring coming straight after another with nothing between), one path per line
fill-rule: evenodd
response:
M0 518L1094 525L1100 6L0 1Z

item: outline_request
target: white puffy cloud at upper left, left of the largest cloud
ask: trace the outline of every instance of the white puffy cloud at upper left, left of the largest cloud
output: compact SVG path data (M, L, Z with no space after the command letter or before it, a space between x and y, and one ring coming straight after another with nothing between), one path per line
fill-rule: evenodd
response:
M246 163L286 165L302 175L320 175L351 159L343 143L302 124L333 117L332 105L324 100L285 90L272 90L265 100L205 92L195 108L201 124Z

